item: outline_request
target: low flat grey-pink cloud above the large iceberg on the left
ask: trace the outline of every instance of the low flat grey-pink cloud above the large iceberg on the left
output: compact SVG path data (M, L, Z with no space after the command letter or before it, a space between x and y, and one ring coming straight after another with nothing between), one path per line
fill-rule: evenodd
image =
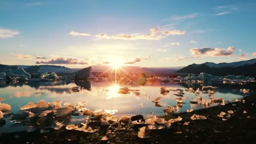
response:
M78 61L72 58L57 58L51 59L51 61L37 61L36 64L88 64L85 61Z

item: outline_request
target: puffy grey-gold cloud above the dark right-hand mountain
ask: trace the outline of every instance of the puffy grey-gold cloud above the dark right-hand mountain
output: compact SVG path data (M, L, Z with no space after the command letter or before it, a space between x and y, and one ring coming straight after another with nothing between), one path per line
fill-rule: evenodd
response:
M230 46L225 50L224 48L191 48L190 53L193 56L233 56L235 48Z

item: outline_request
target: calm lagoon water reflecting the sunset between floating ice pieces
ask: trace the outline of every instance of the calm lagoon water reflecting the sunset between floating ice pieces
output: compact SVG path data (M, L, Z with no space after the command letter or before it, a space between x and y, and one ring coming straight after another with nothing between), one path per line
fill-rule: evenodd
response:
M89 82L89 81L77 81L77 82L45 82L45 83L18 83L18 84L7 84L4 83L0 85L0 97L6 100L2 103L10 104L12 109L11 113L19 112L20 107L23 107L29 102L37 102L40 100L45 100L48 102L52 101L62 101L62 104L68 102L70 104L77 104L81 101L87 101L85 105L91 110L96 109L117 109L118 112L115 114L116 117L122 115L152 115L150 112L154 112L153 115L164 115L163 109L168 106L174 106L177 104L175 101L178 96L175 96L175 91L170 91L167 95L162 95L160 93L160 87L165 85L171 89L187 89L193 87L194 90L197 88L202 88L203 85L219 86L219 90L213 95L213 97L221 97L227 101L234 101L240 98L244 94L240 92L240 88L250 88L250 85L224 85L224 84L187 84L187 83L146 83L146 85L131 85L131 88L138 91L130 91L128 94L118 93L118 87L115 83L111 81L102 82ZM84 87L80 92L73 92L71 90L74 86ZM185 104L180 104L181 110L179 112L184 112L187 109L201 109L201 104L190 104L189 101L198 101L195 93L190 93L184 91L184 97L182 97L182 102ZM209 99L208 94L203 94L200 91L200 95L203 99ZM162 107L154 106L154 99L156 97L162 97L160 100L160 105ZM139 104L143 104L141 107ZM218 105L211 104L209 107ZM72 117L73 119L83 119L83 116ZM72 120L73 122L77 120ZM79 121L79 120L78 120ZM0 131L19 131L22 129L27 129L27 127L9 127L13 123L6 120L6 124L0 128Z

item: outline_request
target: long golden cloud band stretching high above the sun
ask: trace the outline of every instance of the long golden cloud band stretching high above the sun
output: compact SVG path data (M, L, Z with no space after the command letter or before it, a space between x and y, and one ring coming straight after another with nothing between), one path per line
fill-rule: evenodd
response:
M106 33L99 33L93 35L97 39L119 39L119 40L161 40L165 38L165 36L169 35L184 35L185 31L180 30L164 30L160 29L160 27L149 29L149 34L118 34L118 35L107 35ZM162 34L162 35L161 35ZM86 35L89 36L90 34L86 33L78 33L78 32L70 32L69 35Z

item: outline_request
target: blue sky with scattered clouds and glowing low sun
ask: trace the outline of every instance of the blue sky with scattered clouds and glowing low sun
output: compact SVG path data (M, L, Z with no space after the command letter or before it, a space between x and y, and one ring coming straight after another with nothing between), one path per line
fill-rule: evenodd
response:
M256 58L255 0L1 0L0 64L179 67Z

